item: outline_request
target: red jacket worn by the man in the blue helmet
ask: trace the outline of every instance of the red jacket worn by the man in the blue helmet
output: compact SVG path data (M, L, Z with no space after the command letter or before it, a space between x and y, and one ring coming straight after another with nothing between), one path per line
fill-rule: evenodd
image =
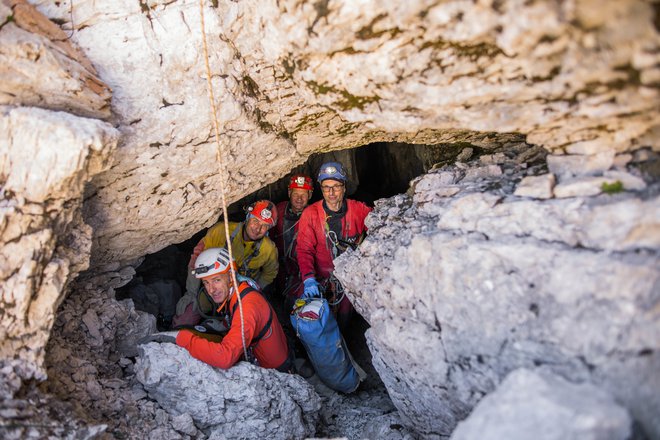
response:
M346 215L342 218L342 239L357 237L367 228L364 219L372 210L362 202L346 199ZM298 266L303 280L328 278L335 268L332 245L326 239L326 214L323 200L308 206L298 223Z

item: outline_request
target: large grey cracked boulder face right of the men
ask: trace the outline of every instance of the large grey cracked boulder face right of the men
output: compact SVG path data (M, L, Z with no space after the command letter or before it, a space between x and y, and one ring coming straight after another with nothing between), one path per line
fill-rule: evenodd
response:
M378 201L367 240L338 259L372 326L374 366L428 437L449 436L510 371L538 365L596 384L658 436L657 184L518 197L529 170L515 150L433 170Z

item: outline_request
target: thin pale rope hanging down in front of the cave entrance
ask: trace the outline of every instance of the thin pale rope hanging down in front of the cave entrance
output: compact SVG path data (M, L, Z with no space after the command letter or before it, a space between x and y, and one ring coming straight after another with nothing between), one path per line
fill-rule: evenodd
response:
M215 108L215 96L213 94L213 83L211 82L211 67L209 66L209 51L206 44L206 29L204 26L204 0L199 0L199 15L200 15L200 27L202 32L202 46L204 49L204 66L206 67L206 84L208 87L209 102L211 103L211 118L213 120L213 129L215 131L215 143L216 143L216 158L220 170L220 194L222 194L222 213L225 222L225 240L227 240L227 251L229 251L229 269L231 273L231 282L234 288L234 293L238 299L238 314L241 317L241 341L243 342L243 354L245 355L245 360L249 361L247 344L245 343L245 322L243 320L243 301L241 300L241 295L238 292L238 281L236 281L236 270L234 269L234 254L232 251L232 243L229 237L229 219L227 216L227 199L225 196L225 179L224 179L224 168L223 160L224 150L222 144L220 143L220 129L218 128L218 116Z

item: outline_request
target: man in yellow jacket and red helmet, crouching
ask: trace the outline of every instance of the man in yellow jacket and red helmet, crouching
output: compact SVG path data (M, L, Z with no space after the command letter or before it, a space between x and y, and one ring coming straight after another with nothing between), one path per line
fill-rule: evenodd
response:
M263 291L277 276L279 264L277 247L266 235L277 224L277 209L268 200L259 200L248 208L244 222L229 222L229 238L232 255L238 267L239 275L256 281ZM197 256L205 249L226 248L224 221L212 226L204 238L195 246L190 257L190 268ZM205 315L200 309L200 281L190 275L186 279L186 294L176 305L176 315L172 319L173 327L197 324Z

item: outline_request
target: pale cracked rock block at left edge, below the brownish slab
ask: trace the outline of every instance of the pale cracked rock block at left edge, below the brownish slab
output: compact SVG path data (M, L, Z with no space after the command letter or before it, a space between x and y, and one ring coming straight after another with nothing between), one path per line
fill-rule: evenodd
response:
M0 107L0 132L0 356L23 359L41 377L65 287L89 262L84 187L109 166L118 133L98 120L28 107Z

